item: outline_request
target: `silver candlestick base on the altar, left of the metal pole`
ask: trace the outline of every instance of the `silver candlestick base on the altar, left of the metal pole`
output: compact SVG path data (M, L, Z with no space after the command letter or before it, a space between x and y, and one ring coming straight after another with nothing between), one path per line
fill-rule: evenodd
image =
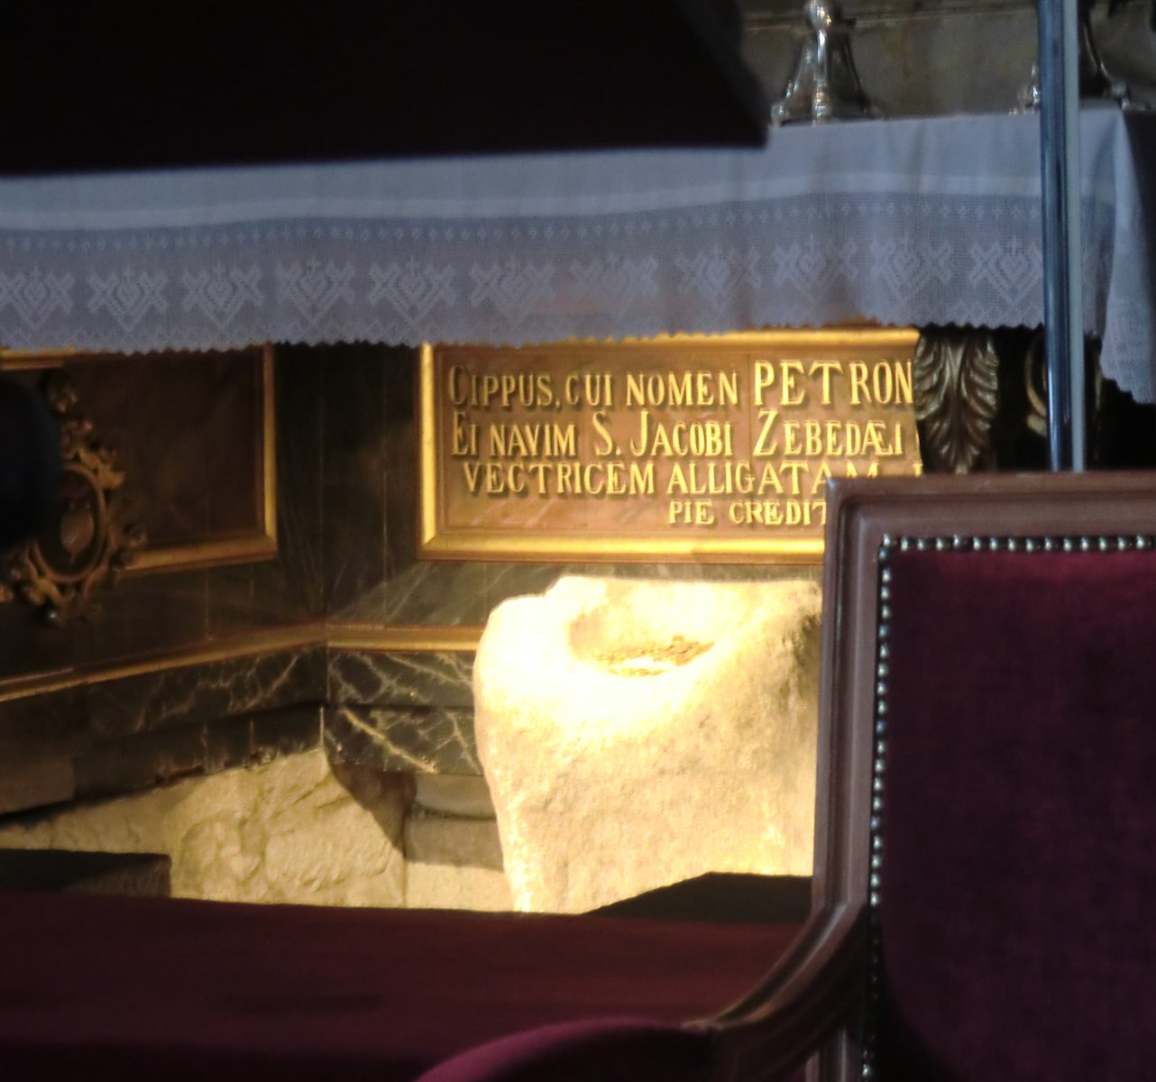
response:
M771 123L850 120L880 116L867 97L851 53L854 21L835 0L808 0L808 37L783 97L771 106Z

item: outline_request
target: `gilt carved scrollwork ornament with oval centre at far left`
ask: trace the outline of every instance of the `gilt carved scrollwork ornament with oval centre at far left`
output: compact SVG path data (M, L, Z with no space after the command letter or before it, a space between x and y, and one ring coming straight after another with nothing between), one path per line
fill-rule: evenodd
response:
M76 388L60 369L49 371L40 391L60 428L59 511L23 544L3 557L0 601L35 605L51 625L97 610L94 598L112 585L144 547L144 528L124 519L125 475L116 453L92 433L77 409Z

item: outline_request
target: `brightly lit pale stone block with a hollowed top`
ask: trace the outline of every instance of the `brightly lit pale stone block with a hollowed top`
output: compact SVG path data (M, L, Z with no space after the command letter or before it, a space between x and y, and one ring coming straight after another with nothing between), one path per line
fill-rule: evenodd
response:
M809 874L818 616L812 579L563 577L498 606L475 727L516 909Z

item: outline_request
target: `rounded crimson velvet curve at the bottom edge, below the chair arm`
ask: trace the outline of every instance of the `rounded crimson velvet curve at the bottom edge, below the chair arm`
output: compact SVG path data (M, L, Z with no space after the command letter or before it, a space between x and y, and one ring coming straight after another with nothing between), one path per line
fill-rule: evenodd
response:
M446 1060L421 1082L705 1082L710 1064L704 1032L600 1018L490 1042Z

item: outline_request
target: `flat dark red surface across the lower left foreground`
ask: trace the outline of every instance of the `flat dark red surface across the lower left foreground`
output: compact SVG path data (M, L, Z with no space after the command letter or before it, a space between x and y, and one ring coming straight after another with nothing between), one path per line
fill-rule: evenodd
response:
M793 927L0 894L0 1074L409 1082L538 1025L681 1023Z

